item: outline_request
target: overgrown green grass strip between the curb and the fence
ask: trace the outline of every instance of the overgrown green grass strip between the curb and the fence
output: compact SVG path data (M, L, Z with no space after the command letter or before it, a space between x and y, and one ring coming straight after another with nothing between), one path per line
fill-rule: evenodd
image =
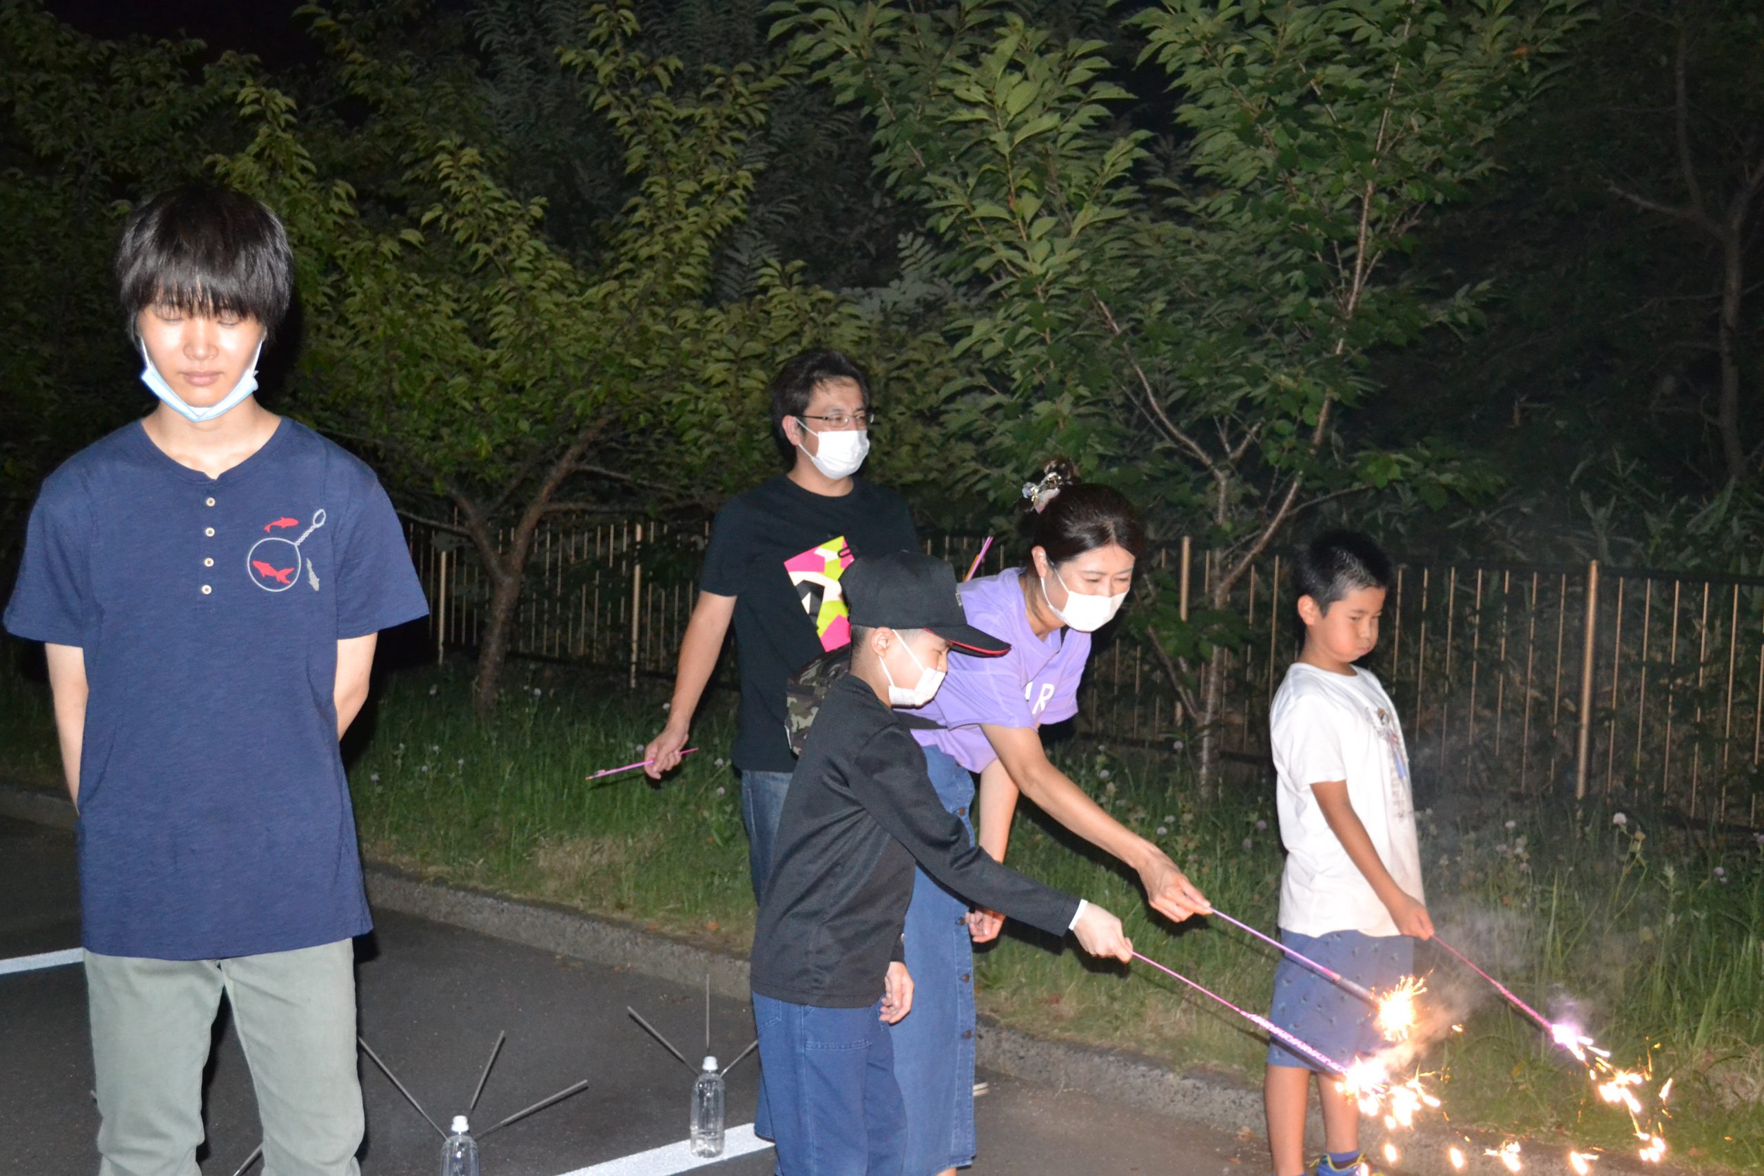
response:
M46 689L0 675L0 776L58 786ZM753 903L739 785L721 758L729 700L695 726L704 748L662 788L626 763L660 730L662 688L517 666L506 703L471 718L462 668L388 675L349 763L369 857L423 876L547 899L730 952ZM1180 755L1080 742L1055 758L1122 822L1164 845L1224 912L1272 929L1281 853L1270 786L1245 779L1201 808ZM1429 904L1454 945L1551 1017L1573 1017L1653 1084L1674 1079L1671 1158L1764 1172L1764 846L1716 845L1630 809L1581 813L1487 797L1422 813ZM1147 917L1134 880L1025 813L1011 864L1120 913L1136 947L1265 1010L1270 952L1215 927ZM1058 947L1058 945L1053 945ZM1420 1056L1455 1123L1522 1134L1535 1150L1633 1153L1628 1120L1480 980L1424 949L1434 1010ZM1004 938L981 952L981 1009L1002 1023L1256 1081L1265 1047L1224 1010L1125 971ZM1461 1024L1462 1031L1452 1031ZM1489 1171L1492 1160L1487 1162Z

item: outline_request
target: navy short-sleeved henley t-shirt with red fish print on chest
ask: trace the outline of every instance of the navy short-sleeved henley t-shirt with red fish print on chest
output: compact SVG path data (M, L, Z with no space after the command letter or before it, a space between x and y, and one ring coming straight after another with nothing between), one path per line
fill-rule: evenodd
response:
M427 612L374 473L291 420L219 478L139 421L49 474L5 626L85 651L85 947L220 959L365 933L337 642Z

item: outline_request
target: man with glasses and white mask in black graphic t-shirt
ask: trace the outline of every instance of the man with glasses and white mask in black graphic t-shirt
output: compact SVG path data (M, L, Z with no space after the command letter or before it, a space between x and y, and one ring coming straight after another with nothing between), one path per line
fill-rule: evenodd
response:
M840 575L859 555L917 547L898 494L856 478L870 453L870 383L838 351L804 351L773 381L773 428L790 471L718 511L699 603L681 640L669 721L644 749L651 779L679 763L729 624L736 626L741 721L734 762L748 869L759 899L796 758L785 681L850 642Z

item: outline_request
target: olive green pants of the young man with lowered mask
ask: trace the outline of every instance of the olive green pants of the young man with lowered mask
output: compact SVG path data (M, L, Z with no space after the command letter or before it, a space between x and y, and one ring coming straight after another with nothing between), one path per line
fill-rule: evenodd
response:
M263 1121L263 1176L356 1176L362 1086L349 940L235 959L86 952L99 1176L196 1176L220 996ZM228 1171L245 1157L217 1157Z

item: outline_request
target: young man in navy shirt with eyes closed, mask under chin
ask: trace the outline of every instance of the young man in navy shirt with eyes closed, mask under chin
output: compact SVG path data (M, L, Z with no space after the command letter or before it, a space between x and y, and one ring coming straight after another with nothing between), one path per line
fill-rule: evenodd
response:
M252 397L293 296L275 213L162 192L116 279L161 404L44 481L5 612L46 644L79 809L99 1171L196 1172L226 993L266 1171L355 1174L370 924L337 741L376 635L427 605L374 473Z

